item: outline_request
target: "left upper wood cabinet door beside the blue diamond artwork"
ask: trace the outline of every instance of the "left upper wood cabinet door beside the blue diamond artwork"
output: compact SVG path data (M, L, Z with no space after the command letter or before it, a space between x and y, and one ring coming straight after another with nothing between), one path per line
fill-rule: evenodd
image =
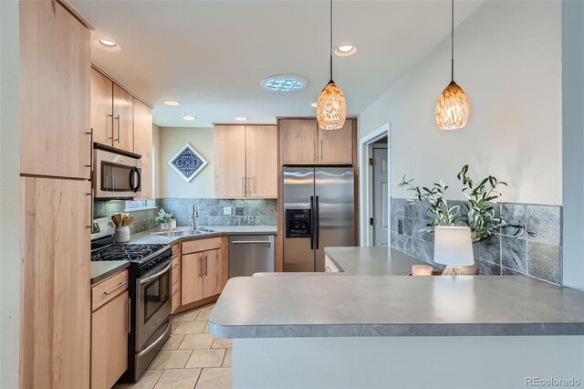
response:
M245 197L245 126L214 128L215 197Z

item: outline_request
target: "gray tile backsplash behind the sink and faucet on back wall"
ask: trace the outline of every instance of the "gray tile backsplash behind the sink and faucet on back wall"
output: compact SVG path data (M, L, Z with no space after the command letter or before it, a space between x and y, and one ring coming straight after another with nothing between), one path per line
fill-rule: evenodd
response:
M276 226L276 199L159 198L158 207L172 213L178 226L189 226L193 204L199 207L197 226ZM224 207L231 215L224 215Z

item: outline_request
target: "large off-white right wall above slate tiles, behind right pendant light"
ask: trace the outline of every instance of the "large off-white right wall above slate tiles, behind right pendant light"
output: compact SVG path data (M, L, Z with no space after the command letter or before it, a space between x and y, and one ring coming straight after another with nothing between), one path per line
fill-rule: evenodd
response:
M360 136L391 122L391 196L411 196L397 188L407 174L414 184L443 178L449 197L462 199L456 173L469 163L473 176L509 184L504 201L561 205L561 3L485 2L454 39L454 79L471 100L464 130L434 122L450 81L450 38L359 116Z

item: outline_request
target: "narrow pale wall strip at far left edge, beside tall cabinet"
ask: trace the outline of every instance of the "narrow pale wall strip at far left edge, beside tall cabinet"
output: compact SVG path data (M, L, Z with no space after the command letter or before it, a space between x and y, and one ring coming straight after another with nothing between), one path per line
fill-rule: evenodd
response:
M20 132L18 2L0 1L0 387L18 387Z

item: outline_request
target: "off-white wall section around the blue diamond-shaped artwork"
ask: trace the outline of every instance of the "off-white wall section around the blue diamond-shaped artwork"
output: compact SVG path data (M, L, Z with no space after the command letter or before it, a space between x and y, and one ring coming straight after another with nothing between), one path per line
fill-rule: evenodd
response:
M186 143L190 143L208 164L190 183L176 173L168 163ZM160 192L157 197L214 197L214 140L212 128L160 129Z

